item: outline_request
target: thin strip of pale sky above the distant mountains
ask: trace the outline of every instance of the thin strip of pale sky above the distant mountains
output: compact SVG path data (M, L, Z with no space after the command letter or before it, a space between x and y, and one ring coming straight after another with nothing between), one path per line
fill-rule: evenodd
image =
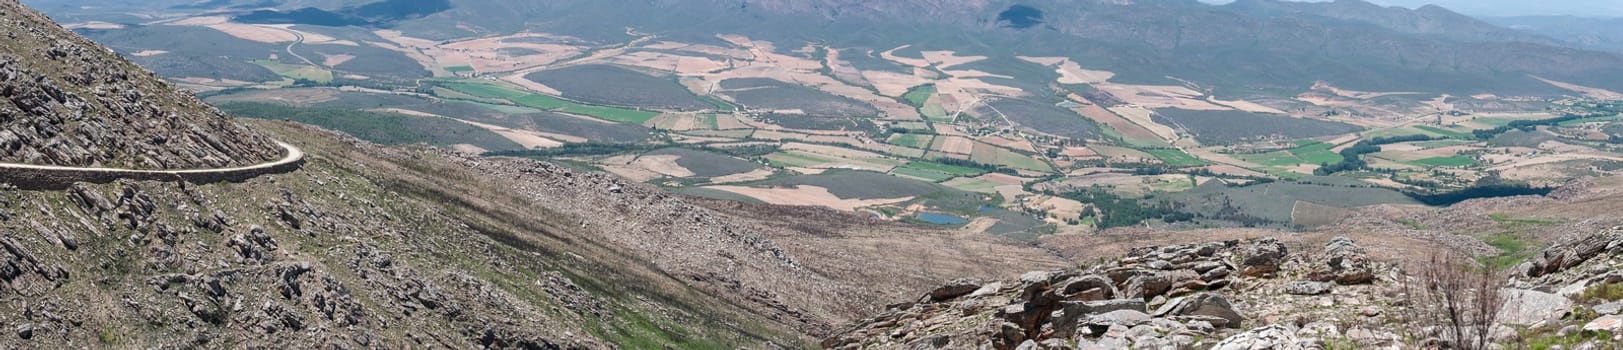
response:
M1232 0L1203 0L1209 3L1229 3ZM1569 16L1623 16L1623 0L1368 0L1389 6L1422 6L1427 3L1472 15L1472 16L1527 16L1527 15L1569 15Z

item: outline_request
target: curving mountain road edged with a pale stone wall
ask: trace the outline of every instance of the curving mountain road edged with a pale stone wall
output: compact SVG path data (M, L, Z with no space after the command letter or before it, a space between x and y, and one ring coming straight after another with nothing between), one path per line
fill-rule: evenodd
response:
M268 173L292 172L304 165L304 151L292 144L276 141L287 151L287 156L274 162L229 167L229 169L188 169L188 170L133 170L105 167L62 167L34 164L0 162L0 183L10 183L23 190L62 190L73 183L110 183L122 178L153 181L242 181Z

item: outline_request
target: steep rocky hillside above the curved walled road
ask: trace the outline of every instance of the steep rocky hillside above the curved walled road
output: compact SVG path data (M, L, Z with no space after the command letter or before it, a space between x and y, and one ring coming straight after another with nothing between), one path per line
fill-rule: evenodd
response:
M282 156L265 136L16 0L0 0L0 162L157 170Z

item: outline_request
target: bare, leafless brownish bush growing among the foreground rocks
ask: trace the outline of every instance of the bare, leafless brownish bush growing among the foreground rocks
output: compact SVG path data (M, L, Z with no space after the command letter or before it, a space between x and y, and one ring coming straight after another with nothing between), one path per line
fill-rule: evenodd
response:
M1483 350L1500 326L1505 275L1457 256L1433 256L1402 284L1404 318L1419 347Z

